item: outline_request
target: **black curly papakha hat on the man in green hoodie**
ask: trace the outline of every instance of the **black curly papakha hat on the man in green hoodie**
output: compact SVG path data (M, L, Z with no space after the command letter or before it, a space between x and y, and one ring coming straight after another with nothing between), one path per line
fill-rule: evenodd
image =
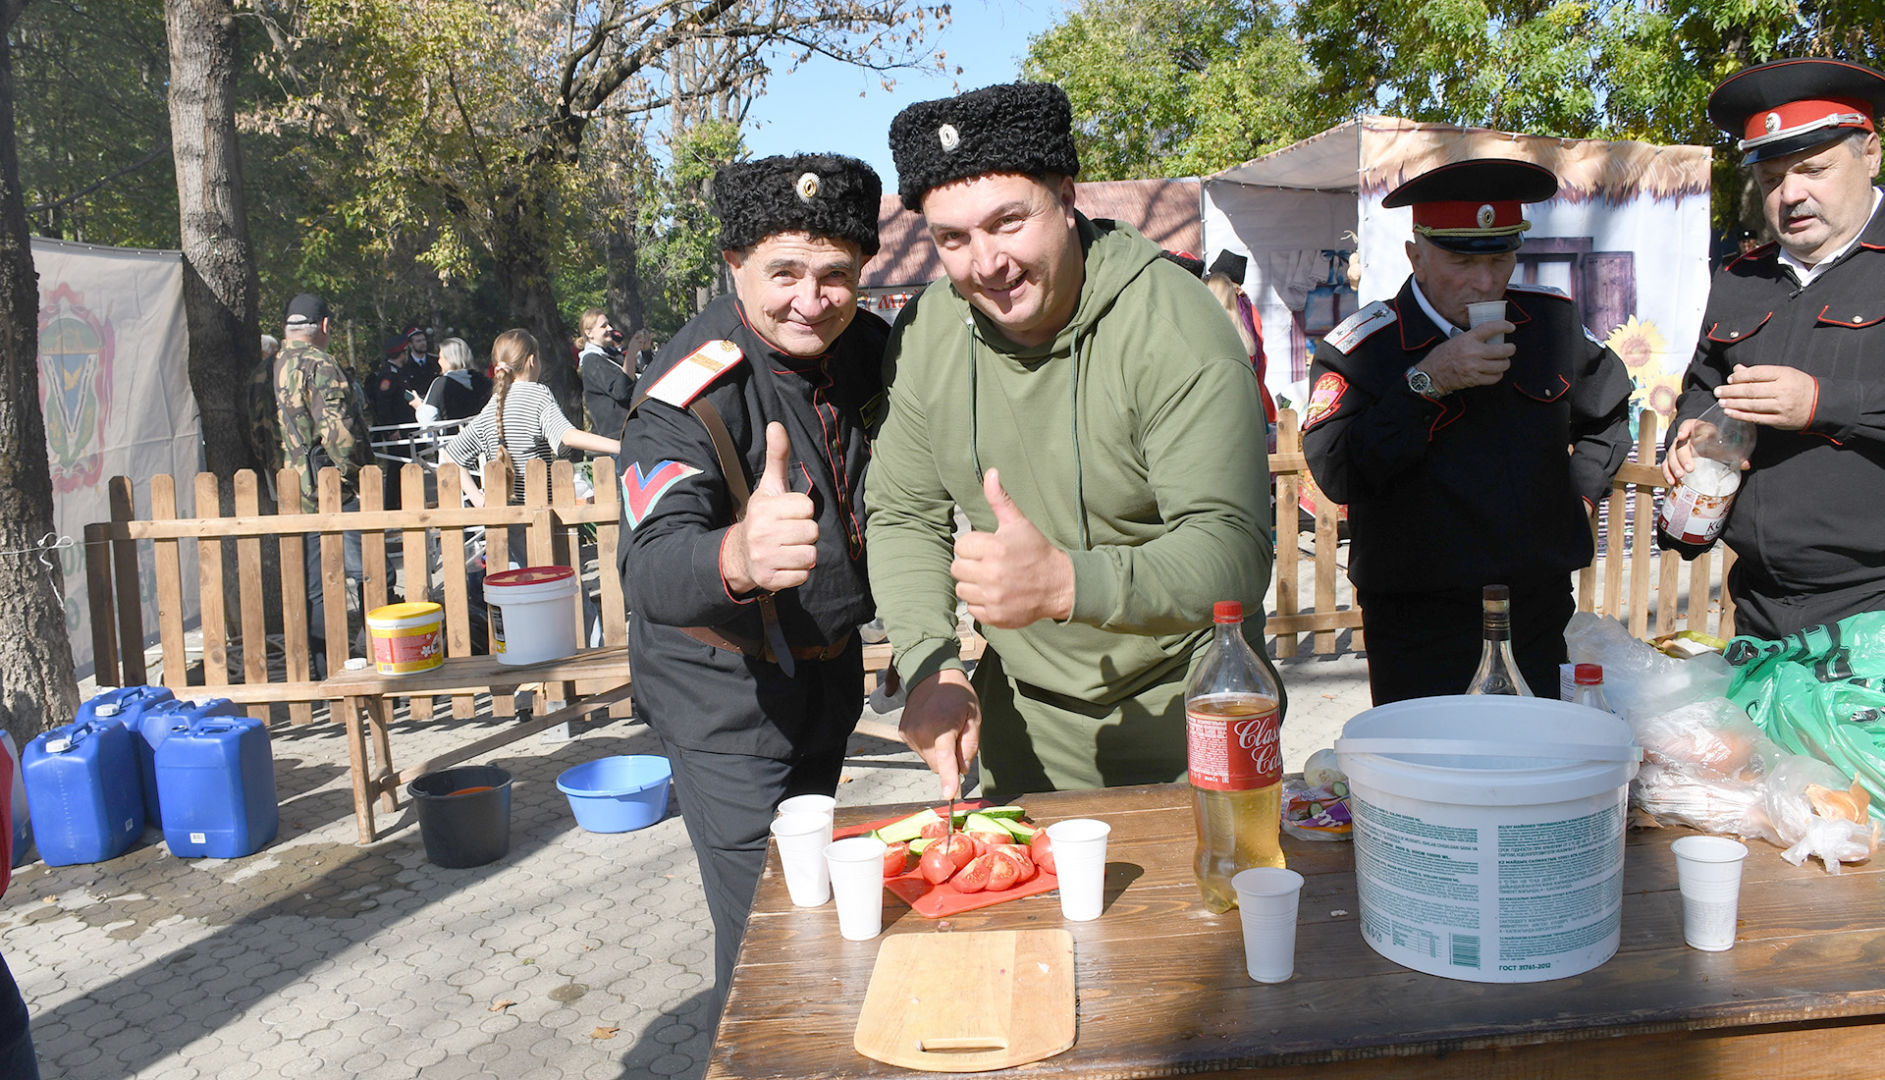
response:
M984 173L1080 175L1073 106L1052 83L1005 83L916 102L890 121L897 194L922 213L924 196Z

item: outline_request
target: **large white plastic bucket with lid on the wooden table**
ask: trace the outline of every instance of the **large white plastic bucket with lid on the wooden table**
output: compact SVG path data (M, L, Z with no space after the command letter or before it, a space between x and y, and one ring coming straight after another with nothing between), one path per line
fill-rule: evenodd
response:
M1544 697L1421 697L1361 712L1335 754L1374 952L1468 982L1566 978L1615 956L1642 758L1621 718Z

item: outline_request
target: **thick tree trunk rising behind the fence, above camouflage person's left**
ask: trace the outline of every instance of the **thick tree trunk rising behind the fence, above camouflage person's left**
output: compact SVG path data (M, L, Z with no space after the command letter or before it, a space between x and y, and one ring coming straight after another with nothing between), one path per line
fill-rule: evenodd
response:
M177 162L183 307L190 388L204 420L209 471L254 467L249 373L262 362L254 249L236 145L238 26L232 0L166 0L170 147ZM224 492L226 492L224 484ZM226 498L226 496L224 496Z

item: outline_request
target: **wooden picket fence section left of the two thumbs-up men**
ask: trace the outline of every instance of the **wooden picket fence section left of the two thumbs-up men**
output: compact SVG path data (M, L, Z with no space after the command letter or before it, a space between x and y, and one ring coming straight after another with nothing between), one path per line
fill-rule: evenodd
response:
M179 695L230 697L249 705L249 712L266 718L268 707L287 703L294 722L313 718L313 701L322 701L320 682L309 665L307 582L303 565L305 537L319 537L322 573L322 613L326 626L347 626L347 571L341 535L360 533L364 581L362 609L373 611L385 603L434 599L430 573L428 532L437 533L439 577L437 599L445 609L447 656L471 654L467 609L469 530L484 530L486 562L492 567L509 565L507 526L524 526L526 550L518 562L528 565L573 565L582 575L584 588L599 594L599 624L603 646L626 646L628 620L622 603L622 581L615 573L620 545L620 484L615 464L596 458L592 464L596 496L579 501L571 462L528 462L524 467L524 501L509 503L511 477L507 469L486 471L486 503L471 507L460 492L458 466L445 462L435 473L426 466L409 464L396 475L400 483L398 511L385 507L385 475L377 466L360 471L358 509L341 509L341 481L334 469L322 469L317 479L317 509L300 505L300 479L294 469L283 469L275 479L283 505L279 513L262 513L262 492L256 473L239 471L234 477L234 516L219 513L221 488L211 473L198 473L194 483L196 516L177 515L177 484L168 475L151 479L149 516L138 518L132 505L132 484L126 477L109 481L111 520L85 526L87 588L92 618L92 650L98 682L139 686L151 682L145 669L143 605L139 597L138 543L155 548L156 624L162 656L160 682ZM435 498L428 499L428 475L435 477ZM584 543L579 530L594 530L594 573L584 575ZM388 545L386 533L398 539ZM181 547L196 548L196 575L187 581ZM279 558L281 599L281 660L283 679L273 679L268 662L266 611L262 588L264 545ZM405 573L394 582L388 573L390 550L398 550ZM224 560L236 560L238 596L224 592ZM192 682L185 645L183 597L196 590L202 611L202 673ZM228 603L234 599L234 605ZM228 611L236 611L234 622ZM581 620L579 613L573 618ZM579 626L579 641L581 641ZM239 650L241 665L232 669L232 650ZM349 635L326 635L326 662L339 671L347 662ZM552 688L554 692L556 688ZM581 688L579 688L581 690ZM409 703L415 718L430 718L432 701ZM513 701L494 697L500 716L515 712ZM628 705L618 707L626 714ZM469 695L452 697L454 716L473 716Z

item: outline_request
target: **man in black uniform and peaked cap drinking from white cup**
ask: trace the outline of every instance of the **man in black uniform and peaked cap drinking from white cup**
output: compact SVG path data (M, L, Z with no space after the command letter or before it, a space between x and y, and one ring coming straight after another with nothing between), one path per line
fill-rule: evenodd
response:
M1410 205L1414 275L1316 347L1303 449L1348 503L1376 705L1461 694L1482 650L1480 590L1512 588L1512 650L1551 694L1591 505L1629 454L1631 381L1553 288L1514 285L1521 207L1549 170L1463 160L1382 200ZM1468 328L1467 307L1502 302Z

